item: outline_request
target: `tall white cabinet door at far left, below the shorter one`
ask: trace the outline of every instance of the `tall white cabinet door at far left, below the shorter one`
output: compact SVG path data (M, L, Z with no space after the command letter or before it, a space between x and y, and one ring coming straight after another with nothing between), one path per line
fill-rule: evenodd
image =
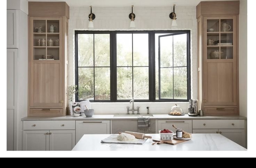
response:
M17 116L18 49L7 49L7 150L14 150Z

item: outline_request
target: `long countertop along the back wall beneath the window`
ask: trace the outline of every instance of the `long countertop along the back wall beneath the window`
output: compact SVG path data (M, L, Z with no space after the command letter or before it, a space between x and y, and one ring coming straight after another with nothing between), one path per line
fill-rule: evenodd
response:
M137 116L133 116L130 114L129 116L118 116L114 117L114 114L95 114L93 117L73 117L71 115L66 115L64 117L24 117L22 121L29 121L29 120L135 120ZM197 117L190 117L189 115L185 114L182 116L173 116L168 114L153 114L150 116L151 120L246 120L246 117L242 117L239 115L205 115L205 116L197 116Z

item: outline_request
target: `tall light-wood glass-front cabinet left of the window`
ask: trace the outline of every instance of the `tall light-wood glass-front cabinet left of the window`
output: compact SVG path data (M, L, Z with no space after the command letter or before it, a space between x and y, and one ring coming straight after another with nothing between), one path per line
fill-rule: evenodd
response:
M66 115L68 19L66 2L29 2L28 116Z

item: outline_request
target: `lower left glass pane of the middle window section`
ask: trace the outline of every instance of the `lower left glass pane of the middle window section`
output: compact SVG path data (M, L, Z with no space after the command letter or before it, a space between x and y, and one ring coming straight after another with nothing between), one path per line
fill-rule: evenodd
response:
M133 97L133 78L131 67L117 67L117 99L127 100Z

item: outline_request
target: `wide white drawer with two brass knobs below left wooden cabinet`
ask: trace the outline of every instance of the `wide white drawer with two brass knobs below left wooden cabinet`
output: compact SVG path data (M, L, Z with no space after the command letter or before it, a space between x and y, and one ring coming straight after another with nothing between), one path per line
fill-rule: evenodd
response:
M75 121L23 121L23 130L75 129Z

